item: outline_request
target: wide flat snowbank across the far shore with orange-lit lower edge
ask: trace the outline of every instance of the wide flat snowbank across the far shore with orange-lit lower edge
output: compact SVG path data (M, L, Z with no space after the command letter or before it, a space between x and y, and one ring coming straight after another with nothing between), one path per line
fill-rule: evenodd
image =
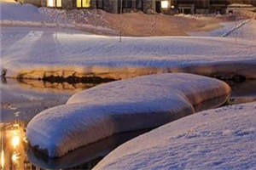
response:
M1 38L1 64L7 69L7 77L93 74L119 79L170 71L203 75L239 71L245 77L255 77L255 41L224 37L123 37L119 42L119 37L76 31L4 26Z

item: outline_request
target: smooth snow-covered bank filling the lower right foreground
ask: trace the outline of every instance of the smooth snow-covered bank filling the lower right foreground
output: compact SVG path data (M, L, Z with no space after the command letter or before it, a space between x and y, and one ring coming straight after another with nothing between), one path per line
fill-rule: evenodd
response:
M202 111L120 145L96 169L254 169L256 103Z

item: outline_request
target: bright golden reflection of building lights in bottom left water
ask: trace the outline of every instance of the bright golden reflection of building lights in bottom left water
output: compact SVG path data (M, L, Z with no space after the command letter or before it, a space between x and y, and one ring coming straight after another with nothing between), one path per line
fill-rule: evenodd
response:
M1 124L1 170L32 170L33 166L26 156L25 132L19 124Z

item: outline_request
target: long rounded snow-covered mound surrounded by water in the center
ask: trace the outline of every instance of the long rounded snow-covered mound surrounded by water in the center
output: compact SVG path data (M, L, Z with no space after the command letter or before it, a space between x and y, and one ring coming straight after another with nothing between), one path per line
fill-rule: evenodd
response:
M110 82L74 94L60 105L35 116L27 126L32 146L50 157L96 142L114 133L158 127L195 112L195 106L219 99L230 87L209 77L160 74Z

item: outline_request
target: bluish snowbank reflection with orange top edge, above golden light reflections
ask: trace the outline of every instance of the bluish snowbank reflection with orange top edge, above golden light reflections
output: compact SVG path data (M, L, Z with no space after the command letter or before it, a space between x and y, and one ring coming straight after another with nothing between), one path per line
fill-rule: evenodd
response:
M0 83L1 122L13 122L19 119L27 123L40 111L55 105L63 105L71 95L94 86L96 84L5 79Z

